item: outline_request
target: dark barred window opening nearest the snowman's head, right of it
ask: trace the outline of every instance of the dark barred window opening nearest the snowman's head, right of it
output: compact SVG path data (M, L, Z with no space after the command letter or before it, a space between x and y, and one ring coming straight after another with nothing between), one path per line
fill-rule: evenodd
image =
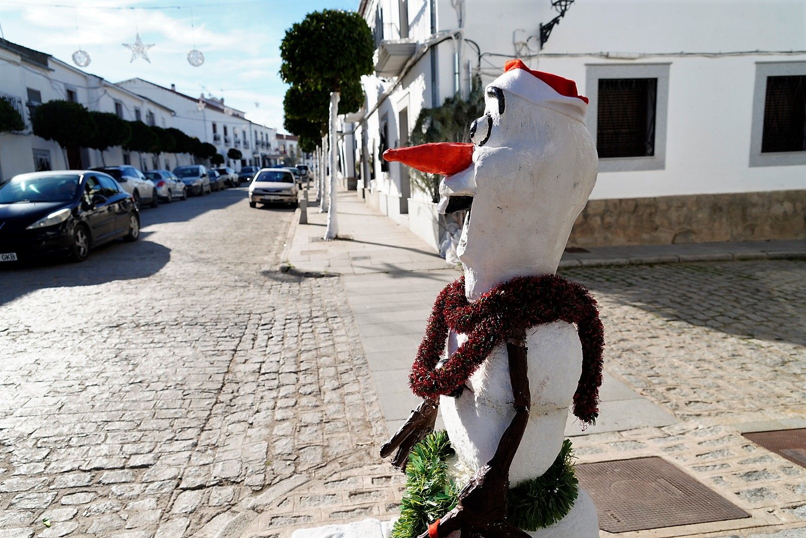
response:
M654 155L656 78L600 78L596 150L600 157Z

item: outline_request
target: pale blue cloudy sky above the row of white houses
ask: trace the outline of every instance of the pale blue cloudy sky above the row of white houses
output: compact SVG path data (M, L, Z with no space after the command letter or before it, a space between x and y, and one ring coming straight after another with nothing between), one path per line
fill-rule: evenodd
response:
M0 0L0 26L9 41L73 64L78 48L89 53L85 71L108 81L142 77L197 97L212 93L254 122L283 129L285 84L280 41L293 23L322 9L355 10L359 0ZM67 6L67 7L56 7ZM147 9L181 6L180 9ZM105 8L134 9L105 9ZM191 9L192 7L192 9ZM78 27L78 29L77 29ZM195 30L193 30L195 28ZM122 43L139 31L151 63ZM192 67L193 48L205 63ZM259 103L256 106L256 103Z

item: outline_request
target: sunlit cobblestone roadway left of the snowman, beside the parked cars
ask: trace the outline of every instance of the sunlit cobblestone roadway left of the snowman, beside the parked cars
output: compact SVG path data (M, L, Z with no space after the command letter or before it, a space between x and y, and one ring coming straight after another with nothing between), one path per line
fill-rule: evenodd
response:
M338 280L268 269L292 215L230 190L144 210L139 242L85 263L0 274L0 536L204 536L267 486L378 466Z

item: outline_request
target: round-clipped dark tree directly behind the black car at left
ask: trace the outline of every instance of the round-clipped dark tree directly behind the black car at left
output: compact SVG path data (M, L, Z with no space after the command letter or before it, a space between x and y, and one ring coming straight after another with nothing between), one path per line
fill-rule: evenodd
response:
M37 106L33 124L36 136L59 144L64 163L68 163L68 147L89 147L95 136L95 121L89 110L73 101L48 101Z

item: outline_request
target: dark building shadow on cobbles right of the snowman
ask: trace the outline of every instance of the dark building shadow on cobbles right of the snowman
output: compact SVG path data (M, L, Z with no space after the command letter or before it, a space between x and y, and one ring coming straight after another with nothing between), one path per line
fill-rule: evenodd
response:
M806 345L806 263L668 263L563 269L593 295L738 337Z

